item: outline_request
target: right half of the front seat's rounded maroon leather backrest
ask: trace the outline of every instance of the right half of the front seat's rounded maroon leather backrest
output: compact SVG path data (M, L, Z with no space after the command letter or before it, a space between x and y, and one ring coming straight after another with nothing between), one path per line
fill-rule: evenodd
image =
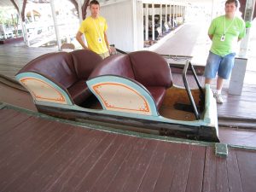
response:
M144 86L172 86L171 69L166 60L151 51L136 51L129 54L135 79Z

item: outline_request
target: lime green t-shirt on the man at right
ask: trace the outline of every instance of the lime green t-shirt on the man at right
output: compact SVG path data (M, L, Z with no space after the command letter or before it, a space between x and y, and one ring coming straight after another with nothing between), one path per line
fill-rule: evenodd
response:
M218 16L212 20L208 34L213 35L211 52L221 56L229 55L236 52L238 38L246 35L245 22L237 16L232 20L225 15ZM221 40L222 36L224 41Z

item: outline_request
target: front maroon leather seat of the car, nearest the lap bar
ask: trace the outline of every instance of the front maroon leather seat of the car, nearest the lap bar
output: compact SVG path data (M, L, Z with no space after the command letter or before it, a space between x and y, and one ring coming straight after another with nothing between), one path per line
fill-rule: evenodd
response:
M106 74L135 79L143 84L153 96L158 109L164 100L166 89L172 86L170 67L164 58L150 51L108 57L94 69L89 79Z

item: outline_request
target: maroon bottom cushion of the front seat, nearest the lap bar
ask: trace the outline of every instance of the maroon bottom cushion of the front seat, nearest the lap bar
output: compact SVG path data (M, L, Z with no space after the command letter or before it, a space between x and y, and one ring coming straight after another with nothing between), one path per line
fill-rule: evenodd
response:
M154 86L147 86L146 88L153 96L156 108L159 110L166 95L166 88Z

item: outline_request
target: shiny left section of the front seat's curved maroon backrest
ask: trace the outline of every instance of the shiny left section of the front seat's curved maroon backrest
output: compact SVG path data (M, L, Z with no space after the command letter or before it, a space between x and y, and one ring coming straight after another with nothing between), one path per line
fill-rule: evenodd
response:
M131 62L128 55L112 55L101 62L90 74L89 79L100 75L119 75L125 78L134 79Z

